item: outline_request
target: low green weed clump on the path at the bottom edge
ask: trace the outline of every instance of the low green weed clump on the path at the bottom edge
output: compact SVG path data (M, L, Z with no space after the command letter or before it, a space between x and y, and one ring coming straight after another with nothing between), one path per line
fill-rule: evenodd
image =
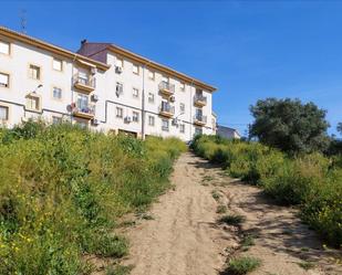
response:
M245 275L249 272L255 271L261 265L261 261L256 257L242 256L232 258L228 263L227 269L222 275Z

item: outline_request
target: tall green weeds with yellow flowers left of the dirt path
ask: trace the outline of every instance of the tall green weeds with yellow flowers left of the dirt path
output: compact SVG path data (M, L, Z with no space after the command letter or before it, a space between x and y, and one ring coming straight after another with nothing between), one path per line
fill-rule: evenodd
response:
M115 221L169 187L183 150L174 138L142 141L68 124L1 129L0 274L85 274L83 254L125 255Z

